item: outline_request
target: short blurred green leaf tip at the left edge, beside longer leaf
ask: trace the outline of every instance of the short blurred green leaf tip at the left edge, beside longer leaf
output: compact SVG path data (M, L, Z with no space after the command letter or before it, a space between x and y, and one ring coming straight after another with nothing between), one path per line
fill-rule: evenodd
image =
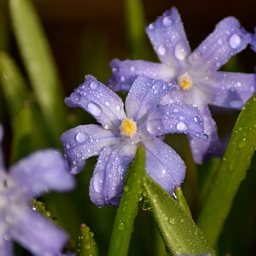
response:
M15 61L6 52L0 52L0 79L1 84L3 84L3 94L8 105L9 116L14 121L20 108L29 98L29 91Z

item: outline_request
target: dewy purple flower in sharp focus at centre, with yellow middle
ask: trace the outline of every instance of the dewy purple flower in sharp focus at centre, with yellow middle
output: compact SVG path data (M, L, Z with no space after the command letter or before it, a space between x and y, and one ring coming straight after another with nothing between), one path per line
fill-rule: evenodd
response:
M171 195L183 182L185 165L180 156L159 135L190 133L207 139L197 108L182 103L157 106L176 84L139 76L124 103L113 90L86 76L66 98L69 107L84 108L101 125L80 125L61 136L67 166L73 173L84 168L85 160L99 154L90 180L90 199L96 206L119 205L125 172L137 150L146 148L146 171Z

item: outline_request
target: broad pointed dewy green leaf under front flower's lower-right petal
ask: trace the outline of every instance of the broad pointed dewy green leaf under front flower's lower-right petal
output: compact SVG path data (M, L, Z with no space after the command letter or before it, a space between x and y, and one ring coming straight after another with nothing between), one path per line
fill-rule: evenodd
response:
M145 201L151 207L160 235L172 255L216 255L188 212L148 175L144 178L144 190Z

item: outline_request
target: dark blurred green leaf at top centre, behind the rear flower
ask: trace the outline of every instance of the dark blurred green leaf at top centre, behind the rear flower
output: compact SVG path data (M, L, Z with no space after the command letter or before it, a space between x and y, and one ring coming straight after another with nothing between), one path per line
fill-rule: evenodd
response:
M145 15L141 0L125 0L125 25L131 45L132 57L144 59L148 56L145 33Z

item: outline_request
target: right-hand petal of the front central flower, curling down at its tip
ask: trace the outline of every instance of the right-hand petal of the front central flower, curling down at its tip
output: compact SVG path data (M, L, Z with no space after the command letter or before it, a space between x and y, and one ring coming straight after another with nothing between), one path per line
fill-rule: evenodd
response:
M164 133L191 133L207 140L198 108L184 103L158 106L148 116L148 131L153 136Z

